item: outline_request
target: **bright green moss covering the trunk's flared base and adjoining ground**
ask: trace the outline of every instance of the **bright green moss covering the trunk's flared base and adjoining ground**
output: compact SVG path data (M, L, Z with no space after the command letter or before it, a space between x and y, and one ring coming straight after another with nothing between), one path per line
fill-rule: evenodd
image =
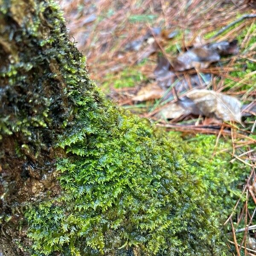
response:
M118 130L109 126L113 120ZM35 251L126 255L131 247L142 255L225 255L221 224L248 170L232 166L228 153L212 158L216 137L166 137L114 108L94 121L94 130L75 137L70 131L61 142L73 152L58 161L61 198L26 212ZM99 131L101 122L109 128ZM227 147L220 142L217 150Z

